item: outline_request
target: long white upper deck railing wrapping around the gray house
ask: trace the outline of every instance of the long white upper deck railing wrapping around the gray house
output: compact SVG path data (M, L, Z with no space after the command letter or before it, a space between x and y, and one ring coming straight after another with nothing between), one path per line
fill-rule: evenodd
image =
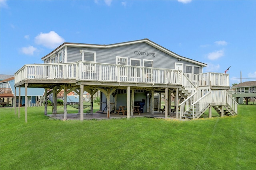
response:
M183 74L180 70L82 61L74 63L26 64L15 73L15 83L22 80L35 79L178 84L191 88L190 90L194 92L194 86L210 86L210 83L216 86L229 86L228 74Z

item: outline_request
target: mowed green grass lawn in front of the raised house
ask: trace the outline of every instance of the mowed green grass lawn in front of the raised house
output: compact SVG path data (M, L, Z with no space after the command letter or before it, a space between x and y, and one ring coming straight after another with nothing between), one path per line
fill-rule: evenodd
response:
M256 169L255 105L238 106L235 117L195 121L60 121L28 107L28 123L24 107L20 118L1 107L0 135L1 170Z

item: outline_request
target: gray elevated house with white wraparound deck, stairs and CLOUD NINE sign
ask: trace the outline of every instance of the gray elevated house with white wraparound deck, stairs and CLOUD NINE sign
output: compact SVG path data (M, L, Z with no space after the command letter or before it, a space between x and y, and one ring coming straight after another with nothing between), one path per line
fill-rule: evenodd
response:
M101 108L106 108L107 117L113 105L115 111L125 106L128 119L134 113L154 115L154 93L165 94L165 118L172 106L168 98L173 95L178 119L198 118L210 107L222 116L237 114L237 102L227 93L228 74L203 73L206 64L182 57L149 39L110 45L63 43L42 61L20 68L15 73L15 87L53 89L55 99L64 89L64 119L66 96L74 90L80 96L84 91L93 96L100 90ZM135 109L137 104L140 111ZM80 98L81 110L83 105ZM83 116L80 114L81 120Z

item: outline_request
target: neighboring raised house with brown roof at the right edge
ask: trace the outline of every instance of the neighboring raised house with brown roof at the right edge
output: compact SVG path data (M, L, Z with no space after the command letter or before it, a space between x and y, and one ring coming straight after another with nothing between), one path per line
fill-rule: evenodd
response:
M232 96L236 101L239 101L239 98L244 98L247 105L249 98L256 98L256 81L243 82L231 88Z

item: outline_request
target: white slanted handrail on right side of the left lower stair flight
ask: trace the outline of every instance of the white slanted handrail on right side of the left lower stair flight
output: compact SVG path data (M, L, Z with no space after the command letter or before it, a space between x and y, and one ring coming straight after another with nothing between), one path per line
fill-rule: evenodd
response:
M207 106L211 103L210 101L210 94L212 94L212 91L209 91L208 93L206 93L204 96L202 96L201 98L199 98L196 102L194 102L191 107L192 107L192 117L193 119L198 115L200 114L200 112ZM203 101L203 102L201 102ZM201 102L200 104L198 104L199 102ZM195 110L195 107L194 105L196 105L196 110Z

